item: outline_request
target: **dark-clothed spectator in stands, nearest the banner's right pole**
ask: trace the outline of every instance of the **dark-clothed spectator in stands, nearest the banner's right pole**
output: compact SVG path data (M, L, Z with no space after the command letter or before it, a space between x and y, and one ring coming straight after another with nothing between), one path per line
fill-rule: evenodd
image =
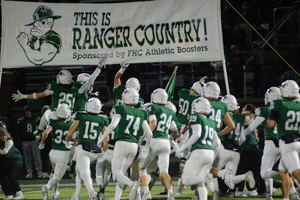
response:
M242 97L243 92L243 65L245 63L244 57L240 54L240 48L237 45L231 46L231 54L227 59L227 65L232 68L232 87L233 93L237 98Z

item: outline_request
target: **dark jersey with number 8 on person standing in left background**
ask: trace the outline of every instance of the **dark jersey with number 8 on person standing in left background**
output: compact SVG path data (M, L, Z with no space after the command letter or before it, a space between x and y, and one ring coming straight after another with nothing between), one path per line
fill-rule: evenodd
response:
M19 135L24 141L33 141L35 137L33 132L37 130L40 123L40 117L21 117L18 119Z

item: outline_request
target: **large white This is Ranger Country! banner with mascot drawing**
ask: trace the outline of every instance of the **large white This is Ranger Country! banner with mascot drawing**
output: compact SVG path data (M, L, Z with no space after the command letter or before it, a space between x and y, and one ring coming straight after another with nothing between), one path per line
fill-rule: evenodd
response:
M0 67L222 60L220 0L1 0Z

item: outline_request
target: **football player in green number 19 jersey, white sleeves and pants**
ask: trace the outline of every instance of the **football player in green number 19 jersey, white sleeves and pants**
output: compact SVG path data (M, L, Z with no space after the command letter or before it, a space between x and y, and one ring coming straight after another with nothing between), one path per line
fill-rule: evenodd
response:
M210 112L210 102L204 97L193 101L192 115L189 120L189 132L191 137L180 147L180 152L191 148L189 159L182 173L184 185L196 185L201 200L208 199L208 191L205 183L208 183L210 190L214 190L212 174L210 174L214 152L212 140L218 138L216 133L216 122L207 118Z

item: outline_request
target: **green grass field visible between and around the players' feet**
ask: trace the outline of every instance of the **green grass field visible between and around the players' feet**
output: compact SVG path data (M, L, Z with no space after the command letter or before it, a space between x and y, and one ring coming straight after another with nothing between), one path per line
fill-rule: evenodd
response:
M173 185L175 185L177 181L177 177L173 177ZM176 181L175 181L176 180ZM41 187L47 183L48 179L36 179L36 180L19 180L19 184L21 186L24 198L26 200L42 200L42 191ZM94 190L98 192L98 187L95 185L95 180L93 179ZM281 190L276 189L277 192L273 194L273 200L283 199L281 195ZM60 196L58 200L70 200L72 195L75 193L75 180L74 179L62 179L59 185ZM156 182L156 185L153 186L151 190L152 200L166 200L166 195L155 195L155 193L162 191L162 186L159 182ZM122 193L122 199L128 199L130 192L130 188L126 188ZM51 198L52 190L48 191L48 196ZM113 182L109 183L109 185L105 189L105 200L113 200L115 194L115 184ZM186 190L183 190L181 198L178 200L191 200L194 195L194 191L187 187ZM208 199L212 200L212 194L209 191ZM0 200L4 200L5 195L2 190L0 190ZM85 187L83 187L80 195L80 200L88 200L89 195ZM219 198L220 200L265 200L265 197L258 195L255 197L246 197L246 198Z

